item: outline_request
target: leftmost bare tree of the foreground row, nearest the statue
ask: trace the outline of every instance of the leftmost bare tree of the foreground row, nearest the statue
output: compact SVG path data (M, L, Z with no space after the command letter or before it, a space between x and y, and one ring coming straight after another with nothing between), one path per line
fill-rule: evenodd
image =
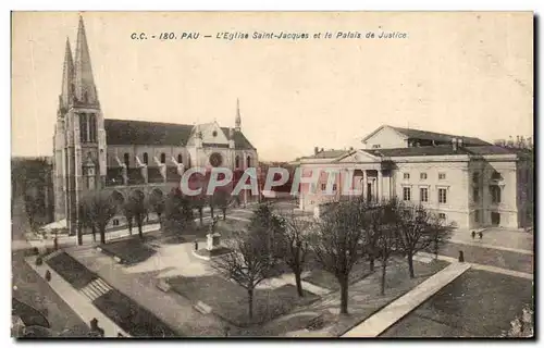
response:
M269 258L262 252L263 241L251 231L235 232L225 245L232 252L214 259L212 266L247 290L248 315L252 319L255 288L271 276Z

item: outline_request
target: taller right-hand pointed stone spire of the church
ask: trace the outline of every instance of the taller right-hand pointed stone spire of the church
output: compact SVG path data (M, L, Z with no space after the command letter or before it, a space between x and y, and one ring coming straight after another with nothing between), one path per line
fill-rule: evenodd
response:
M74 96L79 103L98 104L97 89L95 79L92 78L92 69L90 66L87 36L85 35L85 25L82 16L79 16L77 42L75 47Z

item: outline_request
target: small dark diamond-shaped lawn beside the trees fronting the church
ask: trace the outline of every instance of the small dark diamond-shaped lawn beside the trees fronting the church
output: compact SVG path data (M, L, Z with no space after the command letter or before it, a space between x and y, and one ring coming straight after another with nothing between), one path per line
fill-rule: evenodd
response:
M102 252L120 258L125 264L146 261L157 252L147 246L145 240L140 240L138 236L100 245L100 248Z

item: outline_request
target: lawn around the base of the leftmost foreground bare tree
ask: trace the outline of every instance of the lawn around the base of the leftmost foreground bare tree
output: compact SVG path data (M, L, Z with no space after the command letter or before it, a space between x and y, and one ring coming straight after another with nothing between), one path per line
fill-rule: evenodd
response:
M310 303L319 297L305 291L299 298L296 287L284 285L275 289L256 289L254 319L249 319L247 290L217 275L170 278L172 289L194 302L202 301L231 324L239 327L258 325L285 314L295 307Z

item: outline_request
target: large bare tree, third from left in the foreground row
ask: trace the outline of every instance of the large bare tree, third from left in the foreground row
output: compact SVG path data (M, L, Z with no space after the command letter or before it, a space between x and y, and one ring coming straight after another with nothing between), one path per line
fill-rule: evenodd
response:
M369 227L367 210L362 199L332 204L311 237L317 261L341 286L341 313L347 313L349 273L364 256L360 245Z

